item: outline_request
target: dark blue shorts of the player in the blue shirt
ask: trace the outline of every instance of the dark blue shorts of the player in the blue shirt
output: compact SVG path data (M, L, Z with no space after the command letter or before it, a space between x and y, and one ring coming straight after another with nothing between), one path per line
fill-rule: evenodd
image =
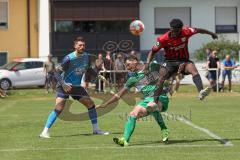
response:
M80 100L81 98L89 98L87 91L81 86L72 86L72 90L69 93L66 93L62 86L57 87L56 97L68 99L71 96L75 100Z

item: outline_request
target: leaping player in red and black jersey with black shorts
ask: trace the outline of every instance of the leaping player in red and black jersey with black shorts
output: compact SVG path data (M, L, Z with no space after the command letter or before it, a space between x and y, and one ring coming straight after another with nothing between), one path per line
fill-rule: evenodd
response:
M210 92L209 88L203 89L201 77L196 69L196 66L189 60L188 52L188 39L194 34L208 34L213 39L217 39L217 35L201 28L183 27L183 22L180 19L173 19L170 22L170 30L157 38L156 44L152 47L147 59L149 64L154 55L163 48L165 51L165 63L160 68L160 79L158 89L154 93L155 102L157 103L158 97L162 92L163 82L176 73L191 74L193 82L195 83L199 99L203 100ZM146 65L145 70L148 70Z

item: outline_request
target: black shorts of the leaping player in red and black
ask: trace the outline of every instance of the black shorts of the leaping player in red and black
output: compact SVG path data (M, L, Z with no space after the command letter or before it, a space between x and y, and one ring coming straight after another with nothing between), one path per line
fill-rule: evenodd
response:
M178 73L179 66L183 63L193 63L193 61L168 61L161 63L161 68L166 68L168 71L167 79L172 77L174 74ZM186 73L184 71L181 72L183 75L188 75L189 73Z

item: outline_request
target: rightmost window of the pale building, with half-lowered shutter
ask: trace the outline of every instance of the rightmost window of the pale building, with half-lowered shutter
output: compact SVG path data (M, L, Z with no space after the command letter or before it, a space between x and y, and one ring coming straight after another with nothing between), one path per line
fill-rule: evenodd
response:
M237 7L215 8L216 33L237 33Z

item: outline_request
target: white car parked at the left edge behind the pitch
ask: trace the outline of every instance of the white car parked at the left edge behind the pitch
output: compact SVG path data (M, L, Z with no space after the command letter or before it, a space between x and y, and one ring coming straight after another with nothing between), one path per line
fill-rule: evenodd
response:
M43 87L45 73L43 63L46 59L21 58L0 67L0 88Z

